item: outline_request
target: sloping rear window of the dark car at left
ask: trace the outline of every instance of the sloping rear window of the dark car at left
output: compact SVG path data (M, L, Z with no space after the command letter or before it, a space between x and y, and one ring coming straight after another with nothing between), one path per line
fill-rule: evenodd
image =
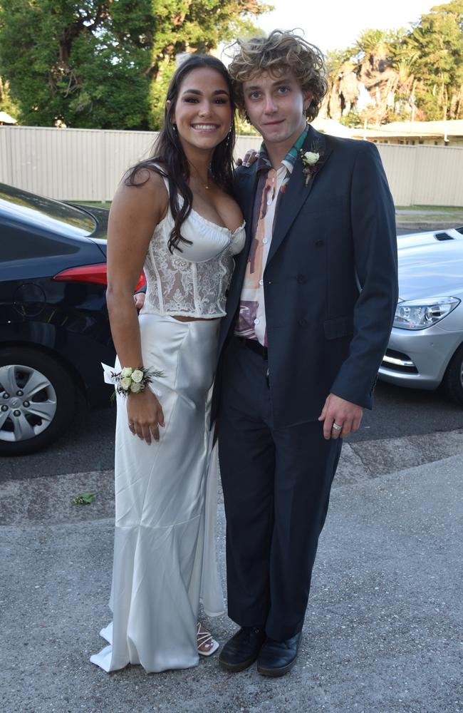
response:
M78 207L4 184L0 184L0 212L28 225L73 237L88 237L96 227L91 215Z

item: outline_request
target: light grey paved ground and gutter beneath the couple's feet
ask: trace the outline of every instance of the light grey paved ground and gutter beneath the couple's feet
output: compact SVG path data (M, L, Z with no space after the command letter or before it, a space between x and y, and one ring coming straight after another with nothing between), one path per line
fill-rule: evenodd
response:
M397 464L406 470L397 470ZM113 473L10 480L0 492L5 713L460 713L462 430L345 444L291 674L105 674ZM98 490L93 505L71 505ZM221 498L219 498L221 499ZM224 571L224 515L219 556ZM209 622L224 642L226 616Z

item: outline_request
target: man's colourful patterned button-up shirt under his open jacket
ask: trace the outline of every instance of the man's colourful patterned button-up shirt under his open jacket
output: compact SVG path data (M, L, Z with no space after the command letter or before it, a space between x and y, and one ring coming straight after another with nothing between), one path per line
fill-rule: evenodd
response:
M281 161L279 168L272 168L264 143L261 145L257 159L259 180L252 214L251 248L241 290L235 334L238 337L256 339L263 347L267 346L264 270L269 256L276 215L307 132L308 128L305 128Z

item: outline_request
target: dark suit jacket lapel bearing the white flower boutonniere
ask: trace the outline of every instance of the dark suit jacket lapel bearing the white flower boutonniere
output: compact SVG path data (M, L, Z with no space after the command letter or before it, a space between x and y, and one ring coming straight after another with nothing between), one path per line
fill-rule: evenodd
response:
M321 170L323 170L323 166L326 164L328 156L331 153L331 148L326 145L325 136L309 126L306 140L303 143L303 151L315 151L320 154L318 169L311 176L308 184L306 185L306 176L303 174L301 157L298 156L296 159L293 173L291 174L291 178L286 185L286 193L283 195L279 212L276 216L274 234L271 239L267 265L272 257L274 257L276 250L278 250L281 245L281 242L283 242L286 237L286 234L293 224L293 221L296 219L301 207L311 195L313 184L316 182L318 174Z

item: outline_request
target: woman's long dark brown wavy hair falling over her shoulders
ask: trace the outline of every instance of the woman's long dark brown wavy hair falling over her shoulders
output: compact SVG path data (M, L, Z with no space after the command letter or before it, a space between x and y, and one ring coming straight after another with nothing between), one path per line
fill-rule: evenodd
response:
M193 194L189 188L189 163L184 154L182 145L172 123L172 118L175 116L175 107L179 96L179 90L184 78L194 69L207 67L214 69L224 78L230 95L231 103L231 129L229 135L224 138L214 149L212 162L210 165L210 173L214 181L226 193L233 193L233 149L235 141L234 114L236 104L234 101L234 91L231 86L227 68L224 64L210 55L192 54L185 60L172 76L169 88L167 90L166 101L170 104L165 108L164 123L160 130L157 140L152 148L150 158L147 158L135 166L132 166L125 178L125 185L142 185L145 181L139 180L140 170L154 170L162 176L167 176L169 180L169 205L174 218L174 227L170 233L168 247L170 252L174 248L182 252L180 242L187 242L191 245L191 240L182 237L181 227L184 220L187 220L189 213L192 210ZM165 170L162 170L156 163L161 163ZM183 198L182 205L177 199L180 195Z

